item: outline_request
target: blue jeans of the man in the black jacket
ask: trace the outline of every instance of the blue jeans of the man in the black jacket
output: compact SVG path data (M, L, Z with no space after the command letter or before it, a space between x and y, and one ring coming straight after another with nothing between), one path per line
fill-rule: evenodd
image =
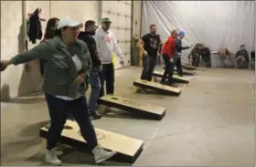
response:
M90 74L91 95L89 99L89 114L95 114L97 101L101 90L99 68L92 68Z

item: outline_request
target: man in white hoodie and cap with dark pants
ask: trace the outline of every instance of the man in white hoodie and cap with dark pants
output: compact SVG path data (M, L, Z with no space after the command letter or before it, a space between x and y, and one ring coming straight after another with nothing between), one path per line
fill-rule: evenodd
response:
M110 31L111 20L107 17L101 21L95 33L95 40L97 43L97 50L101 58L102 70L100 73L101 78L101 92L100 98L104 95L104 81L106 81L107 95L113 95L114 92L114 66L112 63L113 52L121 58L120 64L123 65L123 53L119 47L116 38L112 31Z

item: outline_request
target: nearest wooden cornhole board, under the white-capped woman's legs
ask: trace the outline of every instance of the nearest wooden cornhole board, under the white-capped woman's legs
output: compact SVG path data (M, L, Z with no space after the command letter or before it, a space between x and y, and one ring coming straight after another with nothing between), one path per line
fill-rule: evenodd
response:
M80 135L80 128L77 122L67 120L65 127L69 128L62 130L59 142L77 148L80 151L89 151L86 141ZM133 163L143 151L144 141L98 128L95 128L95 132L102 148L117 151L117 154L111 158L112 161ZM47 133L47 126L40 129L40 137L46 139Z

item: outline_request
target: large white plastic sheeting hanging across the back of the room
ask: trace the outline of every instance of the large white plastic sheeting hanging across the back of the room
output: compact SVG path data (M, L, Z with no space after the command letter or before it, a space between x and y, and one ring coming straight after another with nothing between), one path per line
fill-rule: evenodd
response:
M255 44L255 1L144 1L143 34L155 23L162 40L173 28L184 30L184 46L201 42L211 50Z

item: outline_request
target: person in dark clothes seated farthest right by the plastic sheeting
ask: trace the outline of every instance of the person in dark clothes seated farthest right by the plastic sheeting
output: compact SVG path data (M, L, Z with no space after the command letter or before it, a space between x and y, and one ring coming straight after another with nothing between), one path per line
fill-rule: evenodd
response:
M235 68L241 68L244 62L249 62L249 54L244 45L240 46L240 50L235 55Z

